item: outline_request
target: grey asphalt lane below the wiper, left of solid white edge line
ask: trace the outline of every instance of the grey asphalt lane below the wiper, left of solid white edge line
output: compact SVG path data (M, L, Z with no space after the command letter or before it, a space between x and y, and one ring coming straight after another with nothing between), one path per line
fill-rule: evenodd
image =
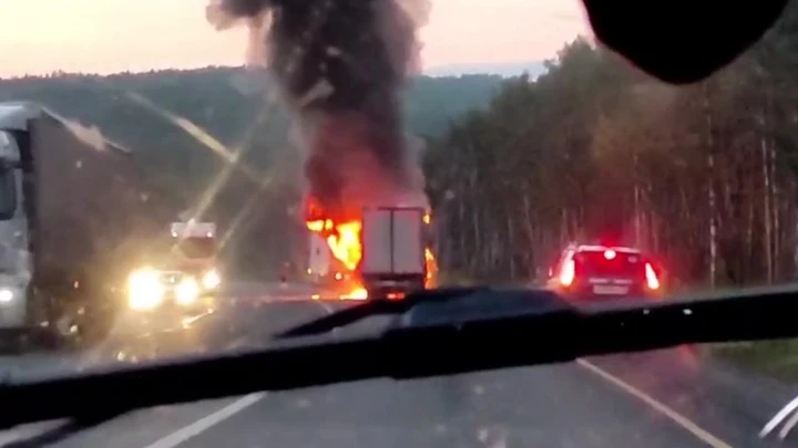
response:
M575 364L142 410L53 446L100 447L108 438L139 448L749 446L694 434Z

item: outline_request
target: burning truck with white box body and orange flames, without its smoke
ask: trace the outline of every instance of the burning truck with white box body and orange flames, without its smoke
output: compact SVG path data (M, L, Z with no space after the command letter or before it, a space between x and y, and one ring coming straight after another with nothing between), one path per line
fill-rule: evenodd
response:
M342 299L400 299L434 285L430 213L422 207L364 207L336 222L311 206L308 273Z

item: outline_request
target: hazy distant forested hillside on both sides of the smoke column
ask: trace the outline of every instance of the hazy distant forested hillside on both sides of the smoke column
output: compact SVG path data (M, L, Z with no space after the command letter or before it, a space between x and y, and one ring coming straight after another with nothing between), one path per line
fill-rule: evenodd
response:
M442 135L467 111L487 106L502 81L412 79L403 94L408 134ZM226 230L225 259L258 278L277 272L286 259L300 272L307 263L297 215L300 153L276 92L265 73L243 67L0 80L0 101L44 104L133 150L175 218L206 209Z

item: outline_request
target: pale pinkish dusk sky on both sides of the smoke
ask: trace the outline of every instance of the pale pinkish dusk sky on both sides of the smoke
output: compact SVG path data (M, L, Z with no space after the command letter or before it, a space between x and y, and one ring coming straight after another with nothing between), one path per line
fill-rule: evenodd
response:
M206 0L0 0L0 77L241 65L244 29L217 32ZM433 0L426 67L551 58L586 34L579 0Z

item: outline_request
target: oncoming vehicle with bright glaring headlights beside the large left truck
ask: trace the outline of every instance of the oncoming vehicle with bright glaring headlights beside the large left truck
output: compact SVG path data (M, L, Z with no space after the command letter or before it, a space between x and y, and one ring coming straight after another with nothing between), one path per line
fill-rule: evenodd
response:
M173 222L166 250L152 267L134 271L127 284L131 310L174 313L212 312L222 283L216 259L216 225Z

